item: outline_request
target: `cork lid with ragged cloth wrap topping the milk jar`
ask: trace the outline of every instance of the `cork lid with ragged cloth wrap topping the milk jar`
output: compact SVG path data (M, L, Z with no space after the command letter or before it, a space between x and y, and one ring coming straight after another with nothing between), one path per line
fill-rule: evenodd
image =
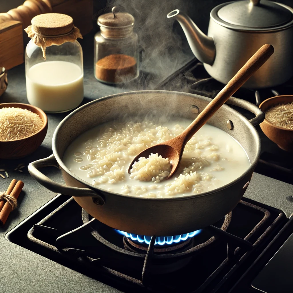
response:
M74 42L82 39L79 29L73 24L72 17L61 13L44 13L35 16L32 24L24 29L29 38L42 48L46 59L46 47L62 45L65 42Z

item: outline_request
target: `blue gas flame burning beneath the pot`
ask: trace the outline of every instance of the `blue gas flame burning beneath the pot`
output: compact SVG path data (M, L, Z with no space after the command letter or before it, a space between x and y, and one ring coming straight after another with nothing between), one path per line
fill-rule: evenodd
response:
M139 243L146 243L149 244L151 242L151 236L142 236L137 234L131 234L124 231L116 230L121 235L126 236L127 238L130 238L133 241L138 241ZM201 230L196 230L194 232L190 232L187 234L181 234L177 236L161 236L156 237L155 245L171 245L172 243L179 243L180 241L185 241L188 238L194 237L195 235L199 234Z

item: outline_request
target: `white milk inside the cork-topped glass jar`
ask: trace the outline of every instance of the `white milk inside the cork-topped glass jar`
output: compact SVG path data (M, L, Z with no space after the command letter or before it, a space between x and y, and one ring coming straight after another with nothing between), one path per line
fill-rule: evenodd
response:
M45 112L65 112L84 98L83 72L66 61L45 61L26 72L26 93L31 105Z

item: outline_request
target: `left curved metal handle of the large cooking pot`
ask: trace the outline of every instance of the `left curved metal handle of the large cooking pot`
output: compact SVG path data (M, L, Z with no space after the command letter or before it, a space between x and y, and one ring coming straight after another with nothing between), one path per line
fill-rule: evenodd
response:
M56 193L62 193L65 195L70 195L70 196L90 196L93 197L93 201L96 205L104 205L105 200L101 195L96 193L90 188L78 188L78 187L69 187L66 185L59 184L57 182L54 182L47 176L45 176L42 172L38 170L38 168L43 168L43 167L48 167L48 166L54 166L57 167L58 169L58 163L54 157L54 154L51 156L45 158L45 159L40 159L37 161L34 161L28 165L28 171L30 172L30 175L35 178L40 184L45 186L45 188L56 192Z

